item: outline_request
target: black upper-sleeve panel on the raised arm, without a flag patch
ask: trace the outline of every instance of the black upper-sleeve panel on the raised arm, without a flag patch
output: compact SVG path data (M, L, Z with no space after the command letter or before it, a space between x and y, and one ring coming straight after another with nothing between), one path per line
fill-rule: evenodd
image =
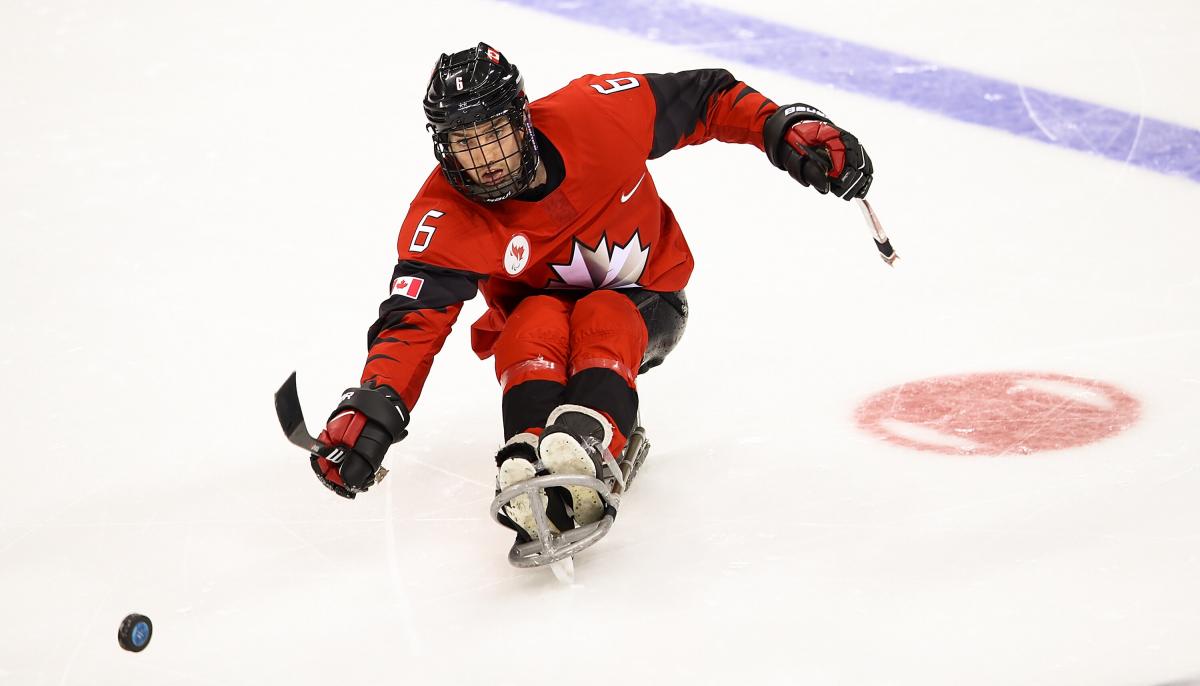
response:
M708 116L708 103L716 94L737 85L725 70L691 70L670 74L644 74L654 94L654 144L650 160L674 150L679 139L696 130Z

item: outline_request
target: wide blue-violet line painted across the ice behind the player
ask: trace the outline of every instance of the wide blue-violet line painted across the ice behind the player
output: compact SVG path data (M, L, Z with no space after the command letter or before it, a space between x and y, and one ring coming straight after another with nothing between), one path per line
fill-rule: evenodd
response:
M504 1L1200 181L1200 131L1136 113L685 0Z

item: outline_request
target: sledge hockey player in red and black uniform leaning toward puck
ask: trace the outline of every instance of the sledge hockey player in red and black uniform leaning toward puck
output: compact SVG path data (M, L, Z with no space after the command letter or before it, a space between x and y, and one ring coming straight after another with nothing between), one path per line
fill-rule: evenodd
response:
M438 168L397 240L391 295L368 332L361 386L320 434L340 450L312 468L338 495L374 483L407 435L433 357L463 302L496 361L503 489L545 474L595 476L637 419L637 377L676 347L692 257L646 162L708 140L742 143L820 193L864 197L858 140L806 104L779 107L725 70L584 76L529 102L516 66L485 43L443 54L425 95ZM546 489L559 531L595 522L601 498ZM504 507L517 540L538 535L528 498Z

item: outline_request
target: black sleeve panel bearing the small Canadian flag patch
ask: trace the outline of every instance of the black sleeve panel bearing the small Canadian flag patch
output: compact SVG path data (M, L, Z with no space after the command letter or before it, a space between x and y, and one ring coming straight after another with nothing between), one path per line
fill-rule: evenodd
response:
M397 293L396 282L409 279L408 293ZM466 302L479 293L481 273L433 266L414 260L400 260L391 271L391 296L379 303L379 319L367 331L367 348L374 345L379 335L392 329L403 329L404 315L419 309L444 311L452 305ZM413 285L420 279L419 287Z

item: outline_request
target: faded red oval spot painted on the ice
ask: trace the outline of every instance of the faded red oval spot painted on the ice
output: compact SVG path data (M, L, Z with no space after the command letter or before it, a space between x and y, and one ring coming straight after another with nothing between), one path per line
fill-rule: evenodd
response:
M1004 372L912 381L858 407L858 426L947 455L1028 455L1096 443L1138 421L1124 391L1064 374Z

